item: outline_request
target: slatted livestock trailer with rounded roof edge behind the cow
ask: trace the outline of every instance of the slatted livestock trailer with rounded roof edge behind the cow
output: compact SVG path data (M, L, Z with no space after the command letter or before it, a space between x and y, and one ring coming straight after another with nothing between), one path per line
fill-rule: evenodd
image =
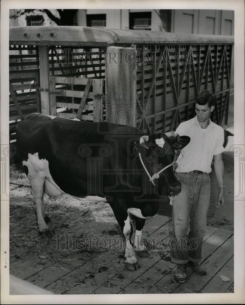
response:
M172 131L203 89L211 119L233 123L233 36L33 26L10 28L9 44L10 142L32 112Z

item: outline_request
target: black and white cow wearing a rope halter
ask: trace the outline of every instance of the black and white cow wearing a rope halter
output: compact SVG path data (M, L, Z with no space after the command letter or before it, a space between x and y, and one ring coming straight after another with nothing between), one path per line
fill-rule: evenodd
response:
M146 218L157 213L161 198L173 199L181 191L172 167L174 150L185 147L190 138L125 128L32 113L17 124L16 139L31 185L39 234L52 236L46 224L44 192L54 198L65 193L105 198L125 238L125 266L134 271L139 268L135 251L140 257L150 255L142 237ZM130 218L136 224L133 245Z

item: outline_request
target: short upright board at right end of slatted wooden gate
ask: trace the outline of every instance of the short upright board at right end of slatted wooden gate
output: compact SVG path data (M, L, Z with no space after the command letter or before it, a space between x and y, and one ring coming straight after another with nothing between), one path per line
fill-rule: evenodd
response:
M103 95L103 79L93 79L93 106L94 106L94 122L103 121L102 95Z

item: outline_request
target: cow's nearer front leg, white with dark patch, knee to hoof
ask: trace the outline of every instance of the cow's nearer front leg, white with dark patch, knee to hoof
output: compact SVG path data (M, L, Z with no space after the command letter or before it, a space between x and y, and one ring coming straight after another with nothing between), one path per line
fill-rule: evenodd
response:
M123 227L123 235L125 237L125 266L128 270L137 270L140 268L137 259L135 257L135 253L133 250L133 246L131 244L131 237L133 234L133 228L130 223L129 215L127 215L126 220L124 221Z

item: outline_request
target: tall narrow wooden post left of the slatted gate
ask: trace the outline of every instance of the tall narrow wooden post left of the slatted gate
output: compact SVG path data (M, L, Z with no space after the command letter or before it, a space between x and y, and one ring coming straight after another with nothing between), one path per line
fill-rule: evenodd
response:
M51 115L50 92L49 92L49 47L38 46L40 65L40 99L41 113Z

